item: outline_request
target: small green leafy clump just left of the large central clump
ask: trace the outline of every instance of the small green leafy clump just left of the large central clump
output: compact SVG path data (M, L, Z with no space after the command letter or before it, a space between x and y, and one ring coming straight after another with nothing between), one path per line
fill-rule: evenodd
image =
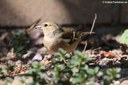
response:
M36 85L40 83L46 83L48 76L46 74L45 67L41 62L33 62L32 66L29 68L29 73L27 77L32 77L32 82L30 85ZM22 81L23 82L23 81Z

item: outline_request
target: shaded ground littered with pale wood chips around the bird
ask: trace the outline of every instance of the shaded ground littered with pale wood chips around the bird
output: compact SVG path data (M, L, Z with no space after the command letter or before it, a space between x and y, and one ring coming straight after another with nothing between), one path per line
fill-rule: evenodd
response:
M32 67L32 63L35 61L41 62L45 68L52 66L52 60L54 60L52 57L54 56L47 52L42 44L42 37L37 38L39 35L40 33L37 33L32 37L24 29L9 31L0 29L0 78L2 84L9 77L14 79L12 83L16 85L17 79L20 79L21 75L28 74L30 71L28 68ZM83 51L86 41L87 48ZM115 83L128 82L127 79L125 80L128 76L127 45L121 44L113 38L107 39L95 33L84 37L77 50L83 51L82 53L86 57L91 58L91 61L86 62L89 67L98 67L103 73L109 68L121 68L119 73L121 77L117 78ZM71 57L77 54L71 53L69 55ZM64 65L70 61L69 59L62 59ZM28 78L28 80L31 80L31 78Z

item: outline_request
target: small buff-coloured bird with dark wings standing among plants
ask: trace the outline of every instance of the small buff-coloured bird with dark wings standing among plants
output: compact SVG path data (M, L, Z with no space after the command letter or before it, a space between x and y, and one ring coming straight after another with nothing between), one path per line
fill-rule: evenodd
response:
M65 31L62 26L53 22L44 22L36 28L43 32L43 44L51 54L57 52L59 48L68 53L74 52L84 34ZM76 38L76 36L78 37Z

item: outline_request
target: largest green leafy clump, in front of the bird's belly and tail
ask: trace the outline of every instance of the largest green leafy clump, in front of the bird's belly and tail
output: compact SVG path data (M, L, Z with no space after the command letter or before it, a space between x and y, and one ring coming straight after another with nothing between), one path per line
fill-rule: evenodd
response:
M53 82L55 84L83 84L95 82L97 77L102 76L99 68L89 68L87 62L92 60L80 51L74 55L59 51L53 57Z

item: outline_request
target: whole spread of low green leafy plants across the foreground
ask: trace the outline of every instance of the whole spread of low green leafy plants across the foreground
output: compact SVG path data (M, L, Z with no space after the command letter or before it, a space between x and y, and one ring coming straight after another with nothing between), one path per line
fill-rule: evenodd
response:
M92 59L80 51L73 55L64 50L59 51L51 58L52 65L45 67L41 62L33 62L29 72L21 79L25 83L27 77L32 81L28 85L82 85L100 81L100 84L109 85L120 77L118 68L108 69L104 75L99 67L90 67L87 63Z

